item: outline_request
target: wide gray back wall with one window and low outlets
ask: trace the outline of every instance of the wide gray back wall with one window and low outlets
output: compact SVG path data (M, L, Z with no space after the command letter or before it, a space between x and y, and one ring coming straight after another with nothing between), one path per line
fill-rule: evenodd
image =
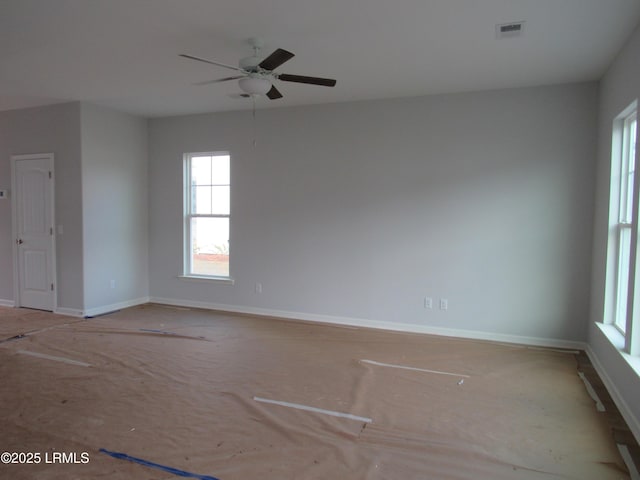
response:
M593 83L259 110L255 147L249 112L151 120L151 296L585 340L596 110ZM233 286L177 278L182 154L208 150Z

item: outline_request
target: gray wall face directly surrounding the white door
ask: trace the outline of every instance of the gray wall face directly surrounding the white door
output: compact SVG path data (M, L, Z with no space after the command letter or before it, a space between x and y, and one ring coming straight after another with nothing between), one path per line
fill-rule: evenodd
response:
M82 188L80 105L66 103L0 112L0 189L11 186L11 155L55 154L58 307L81 311ZM0 299L13 301L11 198L0 201Z

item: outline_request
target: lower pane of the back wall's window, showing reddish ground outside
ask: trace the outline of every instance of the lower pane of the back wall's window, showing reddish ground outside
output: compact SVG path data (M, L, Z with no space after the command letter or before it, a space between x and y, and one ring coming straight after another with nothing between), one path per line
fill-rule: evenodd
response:
M229 219L191 219L191 273L229 276Z

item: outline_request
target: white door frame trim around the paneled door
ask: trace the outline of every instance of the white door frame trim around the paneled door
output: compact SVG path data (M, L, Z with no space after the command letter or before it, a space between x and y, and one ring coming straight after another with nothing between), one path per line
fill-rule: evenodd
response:
M49 236L50 238L50 248L51 248L51 277L53 281L53 303L51 305L51 311L55 312L58 308L58 274L56 270L56 221L55 221L55 162L54 162L54 154L53 153L35 153L28 155L11 155L11 192L12 199L11 202L11 233L12 244L13 244L13 301L15 307L22 306L22 299L20 298L20 266L18 259L18 202L17 202L17 182L16 182L16 164L20 160L37 160L37 159L47 159L49 161L49 171L51 172L51 188L49 189L49 208L51 215L51 228L52 234Z

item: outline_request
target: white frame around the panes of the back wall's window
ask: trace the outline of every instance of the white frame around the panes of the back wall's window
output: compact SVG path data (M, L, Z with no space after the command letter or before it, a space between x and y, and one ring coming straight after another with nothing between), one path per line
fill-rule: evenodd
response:
M234 280L231 276L231 198L229 198L229 213L193 213L192 212L192 182L191 182L191 163L195 157L229 157L229 197L231 197L231 153L226 150L210 151L210 152L189 152L183 155L183 265L182 275L179 278L190 281L220 282L233 284ZM191 221L193 218L226 218L229 222L229 275L205 275L193 272L192 265L192 233Z

